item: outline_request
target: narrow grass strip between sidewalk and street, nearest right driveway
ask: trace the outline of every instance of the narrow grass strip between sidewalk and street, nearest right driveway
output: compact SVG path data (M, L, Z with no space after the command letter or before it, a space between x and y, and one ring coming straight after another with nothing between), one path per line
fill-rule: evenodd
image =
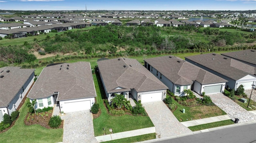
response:
M234 121L232 121L232 119L228 119L228 120L224 120L224 121L217 121L217 122L213 122L213 123L195 125L195 126L191 126L191 127L188 127L188 128L191 131L199 131L199 130L202 130L202 129L210 129L210 128L213 128L213 127L220 127L220 126L231 125L231 124L234 124Z

